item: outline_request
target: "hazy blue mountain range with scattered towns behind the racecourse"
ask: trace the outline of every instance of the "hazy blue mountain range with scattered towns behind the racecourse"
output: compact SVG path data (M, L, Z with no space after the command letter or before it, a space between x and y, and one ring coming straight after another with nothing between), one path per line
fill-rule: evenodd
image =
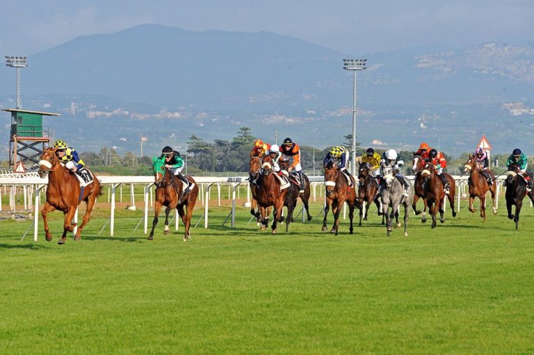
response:
M353 73L342 69L347 57L275 33L147 24L30 56L22 102L29 110L64 113L45 124L82 151L132 150L140 134L148 138L145 149L157 151L162 144L183 146L191 134L231 139L241 126L269 141L289 135L326 147L352 133ZM516 145L534 151L533 44L353 58L367 59L367 69L357 72L362 145L413 149L425 140L455 155L474 149L485 134L499 151ZM1 70L0 81L0 104L13 107L14 70ZM512 103L526 109L512 113L506 106ZM89 111L118 108L111 117L88 118ZM7 135L3 126L0 139L7 142Z

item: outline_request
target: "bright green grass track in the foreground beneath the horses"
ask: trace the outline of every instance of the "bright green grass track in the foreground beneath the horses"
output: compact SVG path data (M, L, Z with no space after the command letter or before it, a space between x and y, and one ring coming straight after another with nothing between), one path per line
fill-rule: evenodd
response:
M377 215L353 235L348 220L323 233L319 204L276 235L245 208L234 229L229 208L210 208L187 243L161 220L153 242L133 233L139 210L118 210L109 237L97 209L64 246L60 213L53 242L21 241L29 222L3 221L0 353L533 354L525 203L519 231L502 206L485 223L462 207L434 230L410 215L407 238L387 238Z

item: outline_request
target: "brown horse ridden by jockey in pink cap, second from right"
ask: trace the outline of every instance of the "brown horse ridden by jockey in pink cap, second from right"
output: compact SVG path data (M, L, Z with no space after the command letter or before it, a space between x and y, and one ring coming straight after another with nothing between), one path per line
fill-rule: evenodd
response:
M493 174L491 172L488 173L495 181ZM480 167L476 163L475 156L471 156L465 163L464 174L469 174L469 210L471 213L476 212L476 208L473 208L473 201L475 197L478 197L480 199L480 217L483 217L484 222L486 222L486 193L488 190L492 194L493 214L497 214L497 208L495 207L497 184L492 183L489 185L486 177L480 173Z

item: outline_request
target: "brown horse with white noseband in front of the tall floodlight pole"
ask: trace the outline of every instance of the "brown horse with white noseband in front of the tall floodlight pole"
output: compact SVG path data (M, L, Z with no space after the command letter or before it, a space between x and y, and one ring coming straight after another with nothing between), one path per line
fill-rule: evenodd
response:
M337 167L332 161L325 165L325 217L323 219L323 231L327 231L326 226L328 210L332 208L332 214L334 215L334 224L332 224L331 233L336 233L336 236L339 231L339 213L343 204L347 202L348 204L348 217L350 219L349 234L353 233L353 217L354 217L354 208L357 206L361 208L359 204L358 197L356 195L356 182L353 176L350 176L350 179L353 181L353 186L349 188L348 183L343 176L343 172L337 170Z

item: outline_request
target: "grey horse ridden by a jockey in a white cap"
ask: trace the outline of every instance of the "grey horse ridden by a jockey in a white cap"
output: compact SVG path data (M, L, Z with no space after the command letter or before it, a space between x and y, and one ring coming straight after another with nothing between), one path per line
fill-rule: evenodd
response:
M404 235L408 236L408 210L412 204L412 199L414 199L414 192L412 190L412 183L405 176L403 179L410 186L408 196L403 195L403 185L401 181L393 176L392 174L387 174L384 176L384 183L380 186L380 199L382 200L382 208L386 208L384 215L386 216L386 226L387 226L387 236L390 236L391 233L391 224L395 213L398 213L398 209L401 207L401 204L404 206ZM389 208L391 207L391 212ZM397 222L397 226L401 226Z

